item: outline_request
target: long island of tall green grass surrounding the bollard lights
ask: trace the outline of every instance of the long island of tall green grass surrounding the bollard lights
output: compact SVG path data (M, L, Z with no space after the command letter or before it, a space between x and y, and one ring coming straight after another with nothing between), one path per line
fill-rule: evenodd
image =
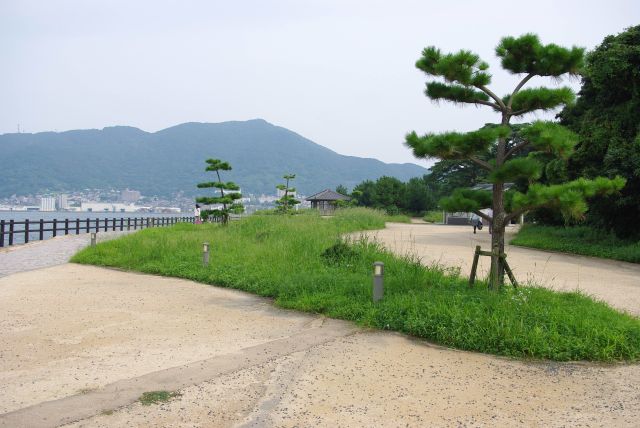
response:
M386 218L366 209L251 216L226 227L147 229L78 253L73 261L192 279L272 297L322 313L459 349L552 360L637 360L640 321L579 293L543 288L469 289L463 278L399 258L348 232ZM211 263L202 266L202 243ZM374 261L385 263L385 296L372 303Z

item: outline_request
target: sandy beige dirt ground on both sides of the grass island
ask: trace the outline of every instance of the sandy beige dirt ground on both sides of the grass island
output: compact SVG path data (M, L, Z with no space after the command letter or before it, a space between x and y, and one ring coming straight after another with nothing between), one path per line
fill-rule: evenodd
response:
M468 235L377 232L443 263L470 259ZM538 253L511 248L509 258L524 272L517 257L535 267L540 257L534 274L557 288L575 288L564 270L576 269L581 289L640 313L638 280L625 277L640 277L635 266L569 256L556 265ZM0 278L0 427L637 427L638 385L639 365L456 351L186 280L73 264ZM181 395L136 401L153 390Z

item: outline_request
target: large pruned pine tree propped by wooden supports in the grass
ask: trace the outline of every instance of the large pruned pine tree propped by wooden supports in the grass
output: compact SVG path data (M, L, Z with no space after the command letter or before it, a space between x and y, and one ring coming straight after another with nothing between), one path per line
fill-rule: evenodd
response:
M566 159L577 143L572 132L548 121L512 128L510 121L528 113L548 111L574 102L575 95L568 87L528 88L524 86L534 77L560 78L577 75L583 66L584 49L564 48L555 44L543 45L538 36L505 37L496 48L502 68L512 74L524 75L515 89L504 97L492 92L489 65L470 51L443 54L435 47L427 47L416 67L427 76L442 78L426 84L425 94L434 101L471 104L493 109L500 117L497 124L485 125L476 131L446 132L418 136L411 132L406 145L416 157L453 161L470 161L487 171L492 191L456 189L440 201L448 211L473 212L493 222L491 238L490 285L500 287L504 282L504 232L509 222L536 207L560 209L565 216L581 217L587 210L585 198L609 194L621 189L625 181L579 178L572 182L543 186L536 184L543 164L536 160L536 152L546 152ZM530 150L526 157L517 157L522 150ZM531 183L525 192L505 193L506 182L518 179ZM492 208L493 217L480 212Z

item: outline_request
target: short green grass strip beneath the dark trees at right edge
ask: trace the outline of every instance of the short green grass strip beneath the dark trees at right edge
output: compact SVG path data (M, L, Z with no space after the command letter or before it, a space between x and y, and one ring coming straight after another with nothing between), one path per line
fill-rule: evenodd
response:
M640 263L640 241L624 241L586 226L525 225L511 245Z

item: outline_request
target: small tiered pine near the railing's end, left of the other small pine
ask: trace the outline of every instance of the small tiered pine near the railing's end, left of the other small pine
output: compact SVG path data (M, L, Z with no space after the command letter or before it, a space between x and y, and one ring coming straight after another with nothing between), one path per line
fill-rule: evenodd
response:
M228 162L221 161L220 159L207 159L207 168L205 171L213 171L216 173L218 181L208 181L205 183L199 183L199 189L215 188L220 192L219 196L203 196L196 198L196 202L205 205L222 205L222 208L216 208L213 210L203 211L203 216L206 218L209 215L220 219L223 224L229 221L229 214L241 214L244 212L244 206L238 202L242 198L242 195L238 190L240 187L231 182L222 181L220 171L231 171L231 165Z

